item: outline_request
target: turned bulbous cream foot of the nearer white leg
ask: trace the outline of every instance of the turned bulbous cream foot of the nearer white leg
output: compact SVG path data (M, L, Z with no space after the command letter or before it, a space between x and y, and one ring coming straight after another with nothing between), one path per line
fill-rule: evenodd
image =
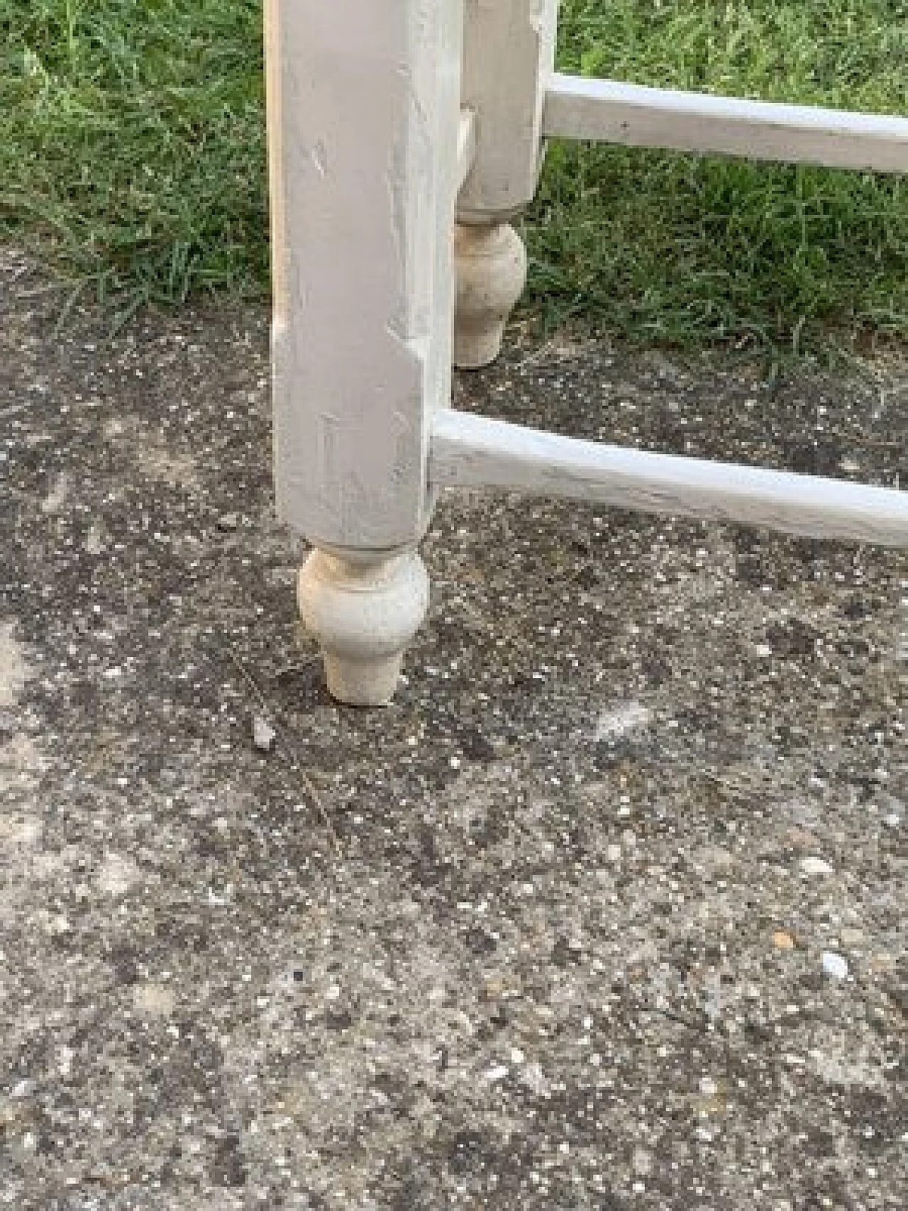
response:
M351 706L387 705L429 610L429 575L415 551L377 558L316 550L300 569L297 597L321 644L332 696Z

